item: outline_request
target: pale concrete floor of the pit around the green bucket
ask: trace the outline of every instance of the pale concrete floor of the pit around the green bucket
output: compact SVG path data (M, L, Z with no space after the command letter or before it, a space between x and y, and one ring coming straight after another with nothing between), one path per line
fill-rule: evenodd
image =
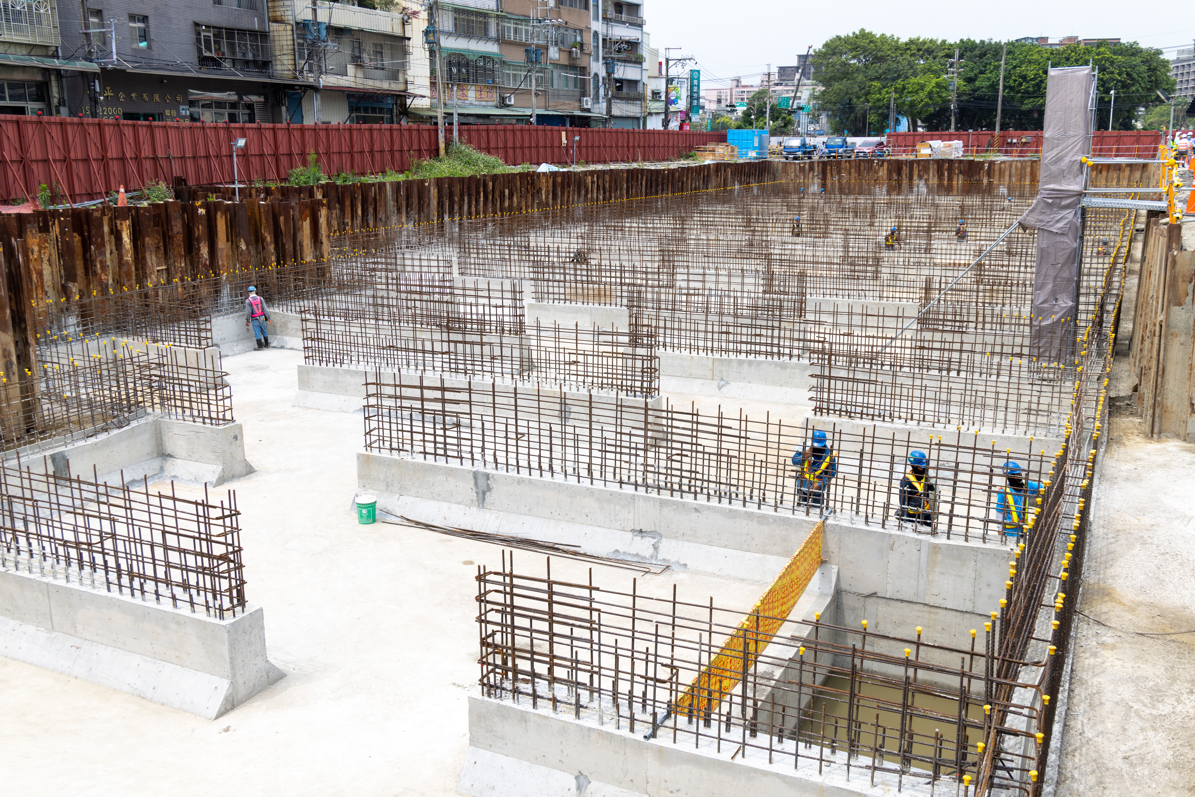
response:
M497 566L500 548L358 526L362 416L292 406L301 360L271 350L223 361L258 468L228 485L244 513L247 591L287 678L208 722L0 658L5 793L455 793L478 676L474 563ZM520 570L543 568L517 556ZM552 563L556 577L586 569ZM594 569L608 588L629 590L631 577ZM764 588L679 572L639 589L666 595L674 582L682 600L713 595L744 612Z

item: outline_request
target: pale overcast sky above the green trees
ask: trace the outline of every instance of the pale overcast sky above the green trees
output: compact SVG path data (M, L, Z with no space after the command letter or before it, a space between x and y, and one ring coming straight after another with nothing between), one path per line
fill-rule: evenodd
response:
M643 17L651 45L661 50L679 47L673 56L692 55L701 69L701 84L712 88L741 75L758 84L772 63L796 62L796 54L810 44L860 27L907 38L993 38L1023 36L1108 36L1136 41L1173 57L1178 45L1191 47L1195 16L1169 13L1191 6L1162 6L1160 13L1128 13L1123 1L1046 0L1044 2L877 2L854 0L805 0L764 2L737 0L644 0ZM1166 11L1169 10L1169 11ZM1171 49L1166 49L1171 48ZM691 67L690 67L691 68Z

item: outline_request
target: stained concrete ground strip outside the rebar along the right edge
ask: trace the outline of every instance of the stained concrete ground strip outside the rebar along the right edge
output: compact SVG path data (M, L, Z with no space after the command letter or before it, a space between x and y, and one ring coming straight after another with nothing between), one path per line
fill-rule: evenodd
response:
M1135 417L1110 427L1056 795L1190 795L1195 446L1150 440Z

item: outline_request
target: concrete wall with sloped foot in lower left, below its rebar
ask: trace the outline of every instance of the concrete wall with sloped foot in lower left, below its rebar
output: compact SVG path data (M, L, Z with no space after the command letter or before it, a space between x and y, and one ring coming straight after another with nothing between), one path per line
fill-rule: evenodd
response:
M261 607L219 620L7 565L0 655L208 719L283 676L265 655Z

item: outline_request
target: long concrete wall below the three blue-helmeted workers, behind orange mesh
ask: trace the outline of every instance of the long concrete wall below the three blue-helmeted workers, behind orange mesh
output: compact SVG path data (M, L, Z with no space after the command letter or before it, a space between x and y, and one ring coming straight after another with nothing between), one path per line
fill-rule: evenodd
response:
M484 509L520 519L509 525L529 537L577 544L603 556L639 551L649 539L651 556L643 556L645 560L735 576L748 569L739 562L743 559L754 568L771 568L764 576L756 570L755 577L765 582L817 521L814 515L372 453L357 454L357 484L360 491L376 495L379 507L387 511L397 511L404 498ZM405 510L400 514L412 516ZM473 517L476 523L484 520ZM497 523L459 525L498 531ZM603 529L605 534L569 535L570 529L580 528ZM881 633L900 636L912 634L921 625L927 642L958 646L969 644L969 630L982 629L976 624L999 608L1010 558L1006 548L995 545L833 521L826 526L822 556L839 568L841 603L836 611L845 625L865 618Z

